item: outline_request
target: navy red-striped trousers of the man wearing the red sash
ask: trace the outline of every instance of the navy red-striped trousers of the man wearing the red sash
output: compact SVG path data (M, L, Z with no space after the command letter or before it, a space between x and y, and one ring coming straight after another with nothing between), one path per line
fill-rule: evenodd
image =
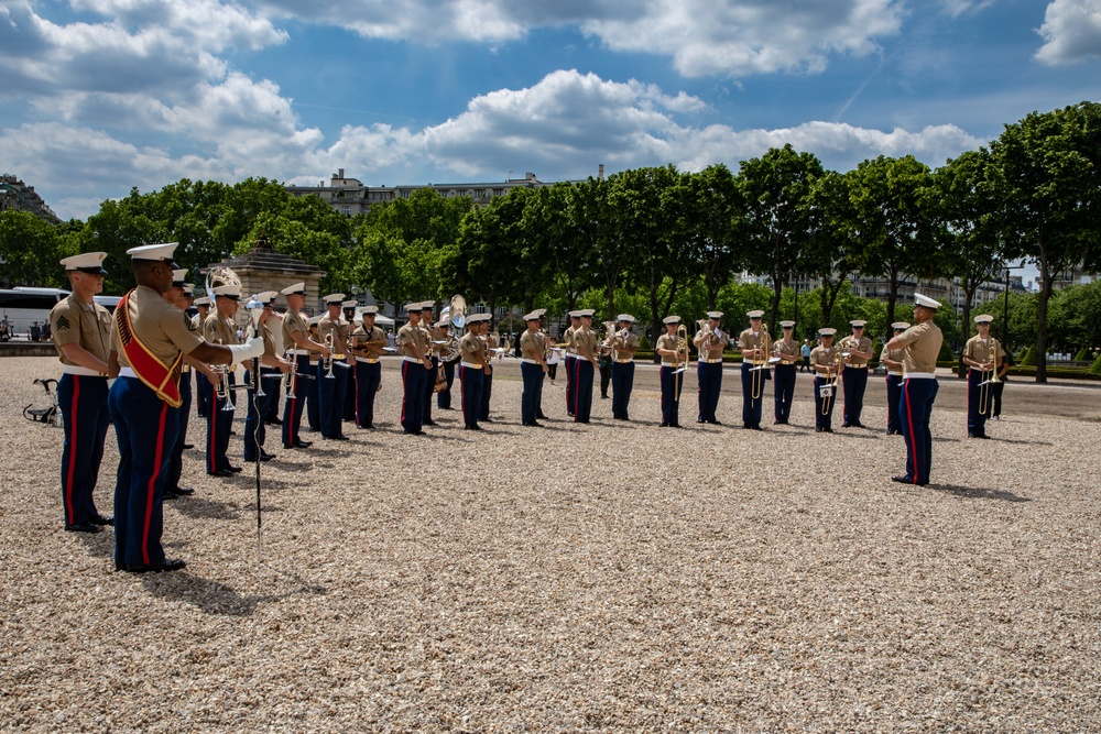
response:
M170 407L137 377L119 377L108 393L119 441L115 482L115 562L164 562L161 503L167 454L176 440L178 408ZM211 409L216 406L211 403Z

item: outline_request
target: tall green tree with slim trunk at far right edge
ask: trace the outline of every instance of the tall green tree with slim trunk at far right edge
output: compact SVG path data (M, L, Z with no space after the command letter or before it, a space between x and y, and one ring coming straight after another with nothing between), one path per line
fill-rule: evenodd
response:
M1005 202L1003 237L1039 269L1036 382L1047 382L1054 282L1098 255L1101 105L1032 112L990 145Z

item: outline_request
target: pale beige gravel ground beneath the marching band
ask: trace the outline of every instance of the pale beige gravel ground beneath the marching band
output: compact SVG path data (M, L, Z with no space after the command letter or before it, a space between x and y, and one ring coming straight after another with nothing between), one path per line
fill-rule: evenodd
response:
M650 368L632 423L599 395L567 423L559 380L541 430L505 362L487 431L406 437L391 362L377 430L269 437L259 544L254 478L186 452L187 568L132 576L62 530L62 434L20 415L56 362L2 365L3 731L1101 731L1101 423L1020 412L1095 416L1095 388L1014 383L969 441L942 380L923 489L887 481L898 437L816 435L804 375L762 432L693 423L690 374L689 427L658 429ZM110 432L105 513L117 456Z

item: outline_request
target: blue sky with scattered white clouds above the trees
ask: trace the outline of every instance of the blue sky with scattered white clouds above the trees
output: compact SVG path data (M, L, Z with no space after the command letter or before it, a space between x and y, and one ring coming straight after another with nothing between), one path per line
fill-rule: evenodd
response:
M930 167L1101 100L1101 0L0 0L0 172L63 219L181 178Z

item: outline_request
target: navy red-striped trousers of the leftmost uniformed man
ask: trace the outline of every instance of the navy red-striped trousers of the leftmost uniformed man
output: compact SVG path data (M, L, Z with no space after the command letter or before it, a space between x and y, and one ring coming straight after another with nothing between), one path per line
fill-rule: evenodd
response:
M57 381L57 405L65 427L62 445L65 523L83 525L99 514L91 495L99 479L111 417L107 409L107 377L63 374Z

